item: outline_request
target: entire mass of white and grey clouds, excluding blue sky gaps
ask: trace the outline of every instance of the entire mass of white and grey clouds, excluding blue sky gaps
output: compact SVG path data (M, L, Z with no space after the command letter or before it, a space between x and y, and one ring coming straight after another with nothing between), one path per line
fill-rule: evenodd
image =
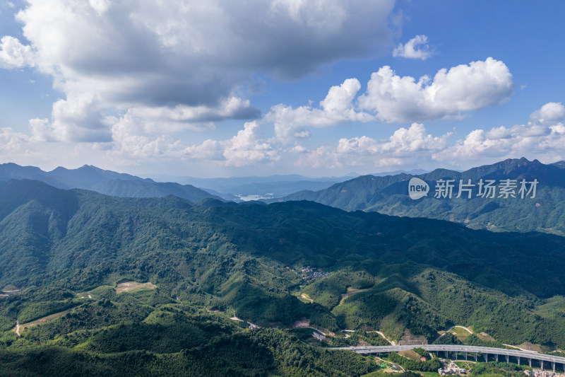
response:
M68 143L68 149L81 144L73 153L88 148L105 161L236 167L565 158L565 108L557 102L523 124L477 127L458 140L456 132L427 129L425 122L468 117L511 98L513 75L493 57L420 78L376 66L370 78L350 77L313 103L279 103L264 116L246 98L256 80L303 78L343 59L390 54L393 6L393 0L28 0L16 16L25 40L0 38L0 68L47 74L63 98L49 119L30 120L30 135L1 128L0 151L27 158ZM425 60L434 50L416 35L392 54ZM214 130L222 120L241 121L241 129L203 142L177 135ZM349 134L311 142L322 127L358 122L401 124L384 139Z

